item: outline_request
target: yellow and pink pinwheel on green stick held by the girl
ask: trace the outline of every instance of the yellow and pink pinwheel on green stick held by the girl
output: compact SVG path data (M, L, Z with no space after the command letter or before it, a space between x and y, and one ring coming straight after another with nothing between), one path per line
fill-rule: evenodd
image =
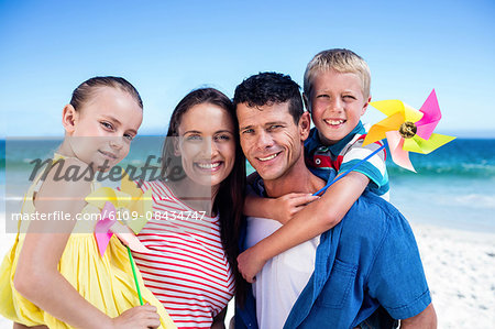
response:
M141 305L143 305L131 250L136 252L150 251L141 243L135 234L144 227L147 221L147 215L151 213L148 211L152 211L151 190L143 193L124 174L121 179L120 190L101 187L88 195L86 201L101 209L101 219L95 227L95 239L100 255L102 256L105 254L113 234L125 244L138 295ZM127 226L118 221L118 218L127 219Z

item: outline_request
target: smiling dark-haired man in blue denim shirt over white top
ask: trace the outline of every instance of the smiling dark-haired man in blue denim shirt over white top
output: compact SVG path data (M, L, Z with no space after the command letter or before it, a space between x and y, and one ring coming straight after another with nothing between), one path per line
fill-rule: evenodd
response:
M234 103L243 152L262 178L255 184L260 195L315 193L324 186L305 164L304 141L310 119L302 110L299 86L290 77L251 77L235 89ZM248 220L241 249L273 232L265 223ZM242 307L237 307L237 328L256 328L258 323L267 329L377 328L372 316L377 309L402 319L402 328L436 328L414 234L391 204L365 191L339 224L315 239L310 245L284 252L265 264L256 275L255 299L250 290ZM305 257L312 261L314 268L298 268L298 260ZM294 293L296 300L285 297ZM279 317L266 314L267 307L274 312L289 311ZM283 320L268 328L272 316Z

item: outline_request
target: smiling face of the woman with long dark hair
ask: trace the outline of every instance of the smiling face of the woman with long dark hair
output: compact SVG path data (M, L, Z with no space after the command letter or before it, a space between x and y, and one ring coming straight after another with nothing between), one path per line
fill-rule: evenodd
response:
M196 184L218 187L235 162L234 125L227 110L211 103L191 107L182 117L176 155Z

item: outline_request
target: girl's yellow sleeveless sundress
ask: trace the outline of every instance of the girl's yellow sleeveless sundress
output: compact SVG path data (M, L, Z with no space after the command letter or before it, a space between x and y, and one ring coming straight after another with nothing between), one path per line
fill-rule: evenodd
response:
M33 195L38 180L40 177L33 182L24 196L23 213L34 211ZM95 186L91 184L91 191L94 190ZM95 213L99 212L99 209L87 205L82 212ZM101 256L92 230L82 227L88 224L94 227L95 221L77 221L75 224L58 263L58 271L86 300L114 318L129 308L140 305L129 254L127 248L113 235L105 255ZM0 315L29 327L45 325L50 328L73 328L21 296L13 286L19 255L25 239L23 232L26 232L28 226L29 221L21 222L15 242L0 267ZM144 303L150 303L157 308L162 322L160 328L177 328L163 305L144 286L139 271L136 275Z

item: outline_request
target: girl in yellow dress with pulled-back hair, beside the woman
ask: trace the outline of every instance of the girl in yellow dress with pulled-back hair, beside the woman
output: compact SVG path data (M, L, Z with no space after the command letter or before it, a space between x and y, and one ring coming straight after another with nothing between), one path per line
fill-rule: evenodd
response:
M108 171L124 158L143 118L138 90L123 78L95 77L82 83L63 110L65 139L61 171L37 177L23 213L62 211L70 218L98 213L85 197L91 179L56 179ZM73 175L74 176L74 175ZM38 184L40 183L40 184ZM144 287L140 305L125 246L113 235L103 255L94 237L95 221L22 221L0 267L0 314L14 328L176 328L162 304ZM46 327L45 327L46 326Z

